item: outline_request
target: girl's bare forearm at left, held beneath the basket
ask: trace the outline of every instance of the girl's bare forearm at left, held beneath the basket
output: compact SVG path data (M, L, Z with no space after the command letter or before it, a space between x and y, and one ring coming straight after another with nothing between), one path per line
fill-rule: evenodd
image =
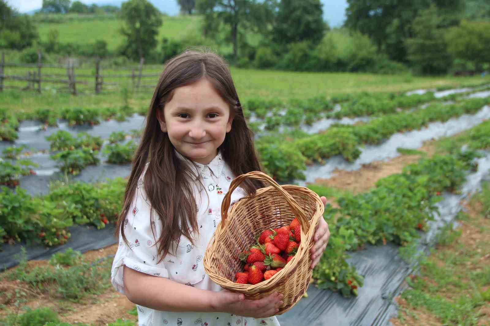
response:
M217 292L140 273L126 266L123 275L124 293L132 303L160 311L218 312L213 304Z

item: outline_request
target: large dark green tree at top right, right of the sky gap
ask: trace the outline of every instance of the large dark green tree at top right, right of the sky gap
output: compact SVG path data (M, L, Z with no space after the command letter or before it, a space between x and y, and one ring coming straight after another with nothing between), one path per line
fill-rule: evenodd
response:
M413 36L412 23L420 10L434 3L446 26L457 22L455 13L464 8L464 0L347 0L345 26L371 37L378 50L386 50L392 60L406 61L405 39ZM451 15L451 17L449 17Z

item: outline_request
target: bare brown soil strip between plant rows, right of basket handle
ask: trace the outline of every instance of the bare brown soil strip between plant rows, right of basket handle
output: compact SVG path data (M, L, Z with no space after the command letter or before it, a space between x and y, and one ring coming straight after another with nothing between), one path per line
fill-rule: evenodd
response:
M418 151L425 152L427 153L427 157L431 157L436 151L436 146L433 141L429 141L419 148ZM401 173L404 166L410 163L416 163L420 158L420 155L400 155L387 162L376 161L364 164L361 169L356 171L336 169L333 177L329 179L316 179L315 183L349 190L357 194L368 191L381 178L393 173Z

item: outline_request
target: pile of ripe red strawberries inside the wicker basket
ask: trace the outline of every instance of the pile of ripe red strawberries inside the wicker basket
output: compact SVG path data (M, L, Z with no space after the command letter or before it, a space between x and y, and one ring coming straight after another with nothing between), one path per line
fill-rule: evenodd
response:
M240 254L244 271L236 274L236 283L257 284L270 279L293 259L301 242L301 225L297 218L290 225L262 231L257 243Z

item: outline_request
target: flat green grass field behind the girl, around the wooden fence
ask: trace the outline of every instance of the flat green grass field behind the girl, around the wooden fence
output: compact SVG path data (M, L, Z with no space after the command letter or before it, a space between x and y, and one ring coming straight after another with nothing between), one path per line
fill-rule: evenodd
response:
M163 68L163 67L162 67ZM26 69L7 68L5 73L25 75ZM43 69L43 74L63 73L61 69ZM153 66L145 69L144 73L160 73L161 68ZM441 86L459 87L490 82L490 76L475 77L417 77L411 75L376 75L368 73L330 73L330 72L291 72L275 70L231 69L235 85L242 104L254 97L265 99L291 98L306 99L314 96L332 96L346 93L379 93L379 92L406 92L415 89L429 89ZM94 74L94 69L77 69L75 73ZM110 71L104 73L130 73L130 71ZM83 79L83 78L78 78ZM78 80L77 79L77 80ZM78 90L85 89L87 94L73 96L68 93L54 92L54 85L44 83L41 94L34 91L5 90L0 92L0 102L3 107L19 111L31 111L36 107L117 107L123 105L121 91L123 87L131 89L130 78L104 78L104 81L119 82L113 86L113 91L94 94L94 78L85 78L88 85L77 86ZM158 77L146 78L143 84L155 84ZM6 80L4 85L24 86L25 82ZM56 87L59 84L55 84ZM44 87L50 87L44 89ZM141 90L138 93L130 92L129 103L134 108L147 106L151 99L153 89Z

